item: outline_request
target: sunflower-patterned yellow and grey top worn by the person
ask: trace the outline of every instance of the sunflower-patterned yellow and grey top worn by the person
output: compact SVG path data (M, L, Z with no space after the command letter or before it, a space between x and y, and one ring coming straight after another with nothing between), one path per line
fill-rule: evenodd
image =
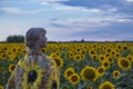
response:
M6 89L59 89L60 73L54 60L27 55L11 73Z

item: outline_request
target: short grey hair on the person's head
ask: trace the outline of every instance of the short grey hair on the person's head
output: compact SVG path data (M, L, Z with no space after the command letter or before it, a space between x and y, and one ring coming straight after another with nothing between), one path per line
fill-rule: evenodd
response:
M40 39L41 34L47 33L44 28L30 28L27 33L25 33L25 44L28 46L28 48L33 48L37 40Z

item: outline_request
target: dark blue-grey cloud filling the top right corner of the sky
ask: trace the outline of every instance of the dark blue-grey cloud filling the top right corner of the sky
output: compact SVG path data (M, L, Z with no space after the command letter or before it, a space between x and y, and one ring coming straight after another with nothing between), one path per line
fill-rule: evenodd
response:
M62 4L72 6L72 7L85 7L88 9L102 9L104 12L113 11L116 14L133 14L133 0L69 0L62 2Z

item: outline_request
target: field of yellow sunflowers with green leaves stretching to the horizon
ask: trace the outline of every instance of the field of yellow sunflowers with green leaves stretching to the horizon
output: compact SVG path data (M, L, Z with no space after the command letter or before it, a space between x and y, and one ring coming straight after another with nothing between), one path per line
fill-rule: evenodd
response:
M49 43L42 52L60 69L60 89L133 89L133 42ZM0 89L25 55L24 43L0 43Z

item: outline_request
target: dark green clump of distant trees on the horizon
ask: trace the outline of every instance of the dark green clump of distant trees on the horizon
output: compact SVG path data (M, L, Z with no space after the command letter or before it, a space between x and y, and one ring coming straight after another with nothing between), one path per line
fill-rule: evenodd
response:
M7 42L24 42L23 36L9 36L6 40Z

